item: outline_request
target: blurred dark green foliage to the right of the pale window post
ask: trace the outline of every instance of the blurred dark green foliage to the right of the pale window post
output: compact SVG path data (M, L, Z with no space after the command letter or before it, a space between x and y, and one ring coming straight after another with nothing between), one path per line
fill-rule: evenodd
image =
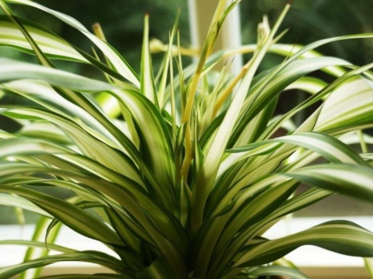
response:
M273 22L286 0L241 2L242 42L255 41L256 24L263 14ZM373 32L371 0L293 0L282 26L289 27L283 43L307 44L322 38ZM345 40L327 44L318 51L356 65L373 60L373 40Z

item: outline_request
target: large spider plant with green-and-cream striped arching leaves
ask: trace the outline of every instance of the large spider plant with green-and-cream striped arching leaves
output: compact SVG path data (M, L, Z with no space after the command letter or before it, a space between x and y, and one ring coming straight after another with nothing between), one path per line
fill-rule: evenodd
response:
M33 54L40 64L0 59L2 95L16 100L3 102L0 112L22 124L17 132L0 132L0 202L42 216L32 240L0 242L29 247L24 262L0 269L0 278L38 277L39 268L61 261L91 262L111 273L44 278L306 278L282 258L302 245L371 262L372 232L348 221L279 239L262 235L333 193L373 201L371 140L363 132L373 127L373 63L355 66L315 51L373 34L280 44L288 4L272 28L264 17L256 44L213 53L222 22L238 3L218 3L198 63L187 67L175 26L156 74L146 15L137 75L99 25L92 33L30 0L0 0L6 14L0 44ZM17 17L9 4L42 10L77 29L92 41L93 53ZM229 63L215 70L238 53L251 53L240 73L230 73ZM268 53L284 60L259 72ZM89 64L106 81L57 69L53 60ZM311 76L315 71L331 81ZM277 115L278 100L290 89L309 95ZM311 105L313 113L295 126L294 116ZM350 147L356 143L361 152ZM297 194L301 183L311 187ZM70 196L48 194L51 188ZM113 254L55 244L61 224Z

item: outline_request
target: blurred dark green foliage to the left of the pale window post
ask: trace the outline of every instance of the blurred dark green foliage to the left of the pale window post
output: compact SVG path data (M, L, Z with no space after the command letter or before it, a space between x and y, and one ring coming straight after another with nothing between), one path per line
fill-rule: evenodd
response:
M186 0L36 0L40 4L78 19L89 30L99 22L107 41L117 49L130 65L139 72L142 43L143 17L150 14L150 37L168 40L178 9L180 13L180 35L182 44L189 44L188 3ZM91 42L79 31L62 21L32 8L14 6L17 15L35 21L57 33L67 41L89 52ZM14 55L14 54L13 54ZM161 63L162 56L155 55L154 64ZM94 75L88 65L69 63L75 71ZM64 67L67 67L64 65ZM70 69L71 69L70 68Z

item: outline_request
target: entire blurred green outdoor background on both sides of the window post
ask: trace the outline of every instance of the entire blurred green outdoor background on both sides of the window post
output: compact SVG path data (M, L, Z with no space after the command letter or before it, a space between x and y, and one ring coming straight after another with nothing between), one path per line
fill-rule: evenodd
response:
M190 45L189 14L187 0L34 0L51 9L63 12L81 21L87 28L99 22L106 39L114 46L130 65L139 72L142 41L143 15L150 14L150 36L167 42L177 11L180 10L179 30L181 44ZM209 0L198 0L209 1ZM242 0L240 4L242 42L254 43L256 26L264 14L270 22L277 18L287 0ZM66 40L90 52L88 39L76 30L46 13L24 7L15 7L17 15L35 21L49 28ZM293 0L292 8L283 26L289 32L283 37L283 43L307 44L312 41L338 35L373 32L373 0ZM353 64L363 65L373 61L373 40L348 40L331 43L318 49L325 55L338 56ZM15 59L35 61L23 53L0 48L0 55ZM246 57L247 58L247 57ZM154 68L161 63L162 54L153 57ZM190 59L187 59L189 62ZM281 57L269 55L262 69L281 62ZM80 72L90 77L102 78L95 70L85 64L72 62L56 62L66 70ZM320 74L320 73L316 73ZM328 77L324 77L328 78ZM279 109L287 110L288 106L299 102L299 97L287 95L279 103ZM296 96L299 96L297 94ZM302 95L300 95L302 96ZM11 100L2 102L11 103ZM0 128L15 130L17 125L0 118ZM373 206L363 202L355 202L349 198L338 196L331 202L325 199L300 215L367 215L373 214ZM350 204L349 207L341 205ZM345 208L345 209L344 209ZM352 210L351 210L352 209ZM0 207L0 223L15 223L16 214L13 208ZM26 214L26 222L35 219Z

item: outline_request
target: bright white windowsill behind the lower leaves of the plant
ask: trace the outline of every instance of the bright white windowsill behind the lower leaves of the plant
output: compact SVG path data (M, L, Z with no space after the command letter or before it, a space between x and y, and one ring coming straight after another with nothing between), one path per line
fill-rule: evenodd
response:
M350 220L373 231L373 216L344 218L308 217L292 218L290 222L281 220L280 222L275 224L268 232L266 232L265 237L269 239L279 238L288 234L293 234L294 232L309 228L325 221L337 219ZM32 236L33 227L33 225L25 225L23 227L19 225L2 225L0 226L0 240L29 240ZM109 250L101 243L78 235L76 232L67 227L62 228L56 244L76 250L98 250L114 255L111 250ZM22 246L0 245L0 267L22 262L25 250L26 248ZM310 276L310 273L314 274L314 276L318 276L317 273L320 273L320 270L327 270L325 268L329 268L330 271L332 271L333 275L337 277L341 277L343 275L351 276L353 274L353 278L358 278L358 276L365 276L367 274L366 271L363 269L364 263L361 258L340 255L314 246L304 246L296 249L295 251L288 254L286 258L292 261L295 265L301 267ZM70 272L72 269L74 270L74 272L77 272L79 270L79 272L88 273L104 271L103 268L97 265L83 262L56 263L47 267L46 271L49 274L58 271L61 272L61 268L66 267L69 267ZM340 272L341 274L336 274L336 272ZM349 272L352 274L349 275ZM324 274L324 276L326 275Z

